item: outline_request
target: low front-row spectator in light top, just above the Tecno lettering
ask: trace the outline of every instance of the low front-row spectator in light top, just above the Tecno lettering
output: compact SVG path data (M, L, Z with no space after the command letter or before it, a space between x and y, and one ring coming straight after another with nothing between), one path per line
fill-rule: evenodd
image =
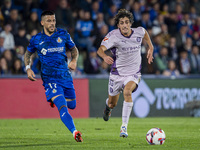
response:
M169 60L168 69L163 72L163 75L168 77L177 77L180 75L180 72L176 69L176 63L174 60Z

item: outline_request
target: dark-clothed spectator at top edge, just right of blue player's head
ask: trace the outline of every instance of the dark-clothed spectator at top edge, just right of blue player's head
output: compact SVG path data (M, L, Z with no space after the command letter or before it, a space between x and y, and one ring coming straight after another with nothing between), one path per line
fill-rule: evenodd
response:
M70 34L74 32L74 18L67 0L59 0L57 9L55 10L57 26L66 28Z

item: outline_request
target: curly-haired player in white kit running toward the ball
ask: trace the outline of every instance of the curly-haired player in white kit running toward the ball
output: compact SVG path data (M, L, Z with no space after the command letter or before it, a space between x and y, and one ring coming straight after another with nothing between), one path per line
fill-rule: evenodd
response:
M125 9L118 11L115 16L118 29L109 32L103 39L97 53L103 60L112 65L106 108L103 119L109 120L112 109L117 105L120 92L123 91L124 102L122 108L122 126L120 137L128 137L127 126L133 107L132 92L134 92L141 78L141 43L144 39L148 44L147 59L153 62L153 45L147 31L143 27L131 28L133 15ZM113 56L104 52L110 49Z

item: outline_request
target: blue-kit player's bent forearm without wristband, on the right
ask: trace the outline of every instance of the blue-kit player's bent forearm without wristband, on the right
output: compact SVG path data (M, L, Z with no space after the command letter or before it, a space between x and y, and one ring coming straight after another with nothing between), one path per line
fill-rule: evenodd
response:
M77 47L73 47L71 49L71 56L72 56L72 60L70 61L70 63L68 64L68 68L71 70L75 70L76 66L77 66L77 60L78 60L78 49Z

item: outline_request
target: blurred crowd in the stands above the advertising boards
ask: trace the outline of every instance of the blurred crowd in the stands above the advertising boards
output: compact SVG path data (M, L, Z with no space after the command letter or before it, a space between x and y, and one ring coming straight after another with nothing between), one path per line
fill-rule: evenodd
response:
M152 39L151 65L146 59L148 45L142 44L143 74L200 74L199 0L1 0L0 74L25 74L24 53L30 38L42 30L43 10L55 12L57 27L68 30L79 49L74 75L108 74L110 66L97 56L97 49L117 28L114 16L121 8L133 13L132 27L144 27ZM70 61L70 51L66 54ZM39 74L37 54L32 60L32 69Z

